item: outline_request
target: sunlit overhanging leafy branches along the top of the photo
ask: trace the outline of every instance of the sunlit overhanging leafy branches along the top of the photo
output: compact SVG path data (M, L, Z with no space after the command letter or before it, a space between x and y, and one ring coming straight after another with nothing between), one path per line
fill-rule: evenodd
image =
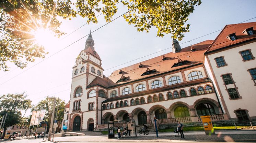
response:
M123 16L128 24L138 31L152 27L158 29L157 36L171 33L181 40L189 31L188 16L201 0L7 0L0 2L0 65L8 70L7 62L24 68L27 61L35 57L44 58L44 47L35 43L38 28L51 28L59 37L60 16L71 19L80 15L87 22L97 23L96 14L103 13L110 22L117 13L118 2L123 3L127 13Z

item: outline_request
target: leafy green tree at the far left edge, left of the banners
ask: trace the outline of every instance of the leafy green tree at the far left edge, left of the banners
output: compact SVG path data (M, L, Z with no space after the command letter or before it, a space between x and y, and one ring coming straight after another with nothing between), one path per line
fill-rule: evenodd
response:
M14 124L20 124L23 121L22 110L25 112L31 108L31 100L26 99L27 95L23 94L7 94L0 96L0 115L6 115L5 127L12 126Z

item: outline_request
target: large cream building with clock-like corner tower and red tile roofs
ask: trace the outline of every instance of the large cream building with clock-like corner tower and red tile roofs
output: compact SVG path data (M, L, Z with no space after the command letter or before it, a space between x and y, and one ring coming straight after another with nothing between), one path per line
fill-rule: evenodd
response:
M108 77L90 33L73 67L68 130L106 128L111 120L152 124L153 113L164 125L200 123L201 115L213 121L254 120L255 28L256 23L227 25L214 41L184 48L174 39L172 52Z

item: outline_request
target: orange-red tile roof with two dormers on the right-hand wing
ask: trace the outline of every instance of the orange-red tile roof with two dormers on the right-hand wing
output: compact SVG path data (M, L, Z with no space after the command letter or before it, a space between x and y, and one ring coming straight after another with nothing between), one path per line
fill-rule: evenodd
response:
M244 34L244 30L253 27L254 33L256 31L256 22L251 23L241 23L241 24L230 24L226 25L218 37L212 42L210 47L207 49L207 52L211 52L226 46L234 45L240 42L251 40L256 38L256 34L247 35ZM229 34L235 33L237 40L231 41L227 37Z

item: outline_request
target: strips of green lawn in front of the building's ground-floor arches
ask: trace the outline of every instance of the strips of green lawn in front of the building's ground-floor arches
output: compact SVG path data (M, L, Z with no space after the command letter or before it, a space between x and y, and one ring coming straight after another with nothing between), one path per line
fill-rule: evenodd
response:
M234 126L213 127L214 130L235 130ZM237 129L246 129L248 126L236 126ZM176 129L176 128L175 128ZM159 132L173 132L174 128L160 129ZM202 126L184 127L184 131L204 131Z

